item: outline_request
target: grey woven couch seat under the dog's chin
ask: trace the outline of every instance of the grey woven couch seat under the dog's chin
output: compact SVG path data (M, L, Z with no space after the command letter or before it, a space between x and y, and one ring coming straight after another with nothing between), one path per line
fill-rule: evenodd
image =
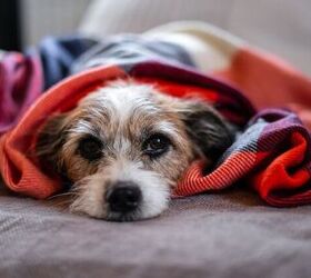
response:
M311 276L310 207L267 207L237 188L126 224L3 196L0 224L0 277Z

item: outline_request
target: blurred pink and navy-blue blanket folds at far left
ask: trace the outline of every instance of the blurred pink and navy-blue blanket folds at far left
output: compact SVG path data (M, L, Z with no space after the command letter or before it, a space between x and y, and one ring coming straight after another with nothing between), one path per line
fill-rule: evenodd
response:
M44 89L67 77L72 62L96 42L82 36L47 37L26 54L0 51L0 136Z

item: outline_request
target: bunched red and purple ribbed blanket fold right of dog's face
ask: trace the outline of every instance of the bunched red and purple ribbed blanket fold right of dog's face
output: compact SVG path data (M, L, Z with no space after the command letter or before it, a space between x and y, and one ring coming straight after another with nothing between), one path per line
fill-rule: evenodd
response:
M263 110L211 173L203 177L201 162L193 163L175 195L219 190L245 180L270 205L310 203L310 135L294 113Z

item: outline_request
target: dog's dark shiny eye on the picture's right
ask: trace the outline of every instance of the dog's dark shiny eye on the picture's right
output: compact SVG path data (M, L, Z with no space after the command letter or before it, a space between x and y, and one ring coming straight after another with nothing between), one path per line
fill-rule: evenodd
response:
M171 141L163 135L153 135L143 143L143 152L152 158L159 157L168 151Z

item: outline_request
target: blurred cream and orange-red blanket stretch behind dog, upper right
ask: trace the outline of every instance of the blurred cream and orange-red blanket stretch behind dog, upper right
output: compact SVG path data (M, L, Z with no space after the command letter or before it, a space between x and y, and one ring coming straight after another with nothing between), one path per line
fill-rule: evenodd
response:
M311 128L311 80L279 57L198 21L168 23L144 36L182 46L197 69L238 87L257 109L291 109Z

